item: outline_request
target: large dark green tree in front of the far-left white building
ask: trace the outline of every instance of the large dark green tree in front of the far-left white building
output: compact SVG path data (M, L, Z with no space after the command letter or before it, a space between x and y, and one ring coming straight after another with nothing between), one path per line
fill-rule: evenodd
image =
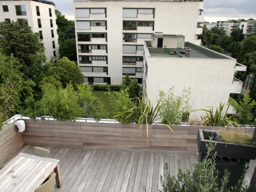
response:
M31 27L24 24L21 26L18 22L0 23L0 45L3 53L16 57L21 67L21 72L25 79L35 81L38 75L37 70L46 60L44 55L44 45L39 38L38 33L33 33Z

